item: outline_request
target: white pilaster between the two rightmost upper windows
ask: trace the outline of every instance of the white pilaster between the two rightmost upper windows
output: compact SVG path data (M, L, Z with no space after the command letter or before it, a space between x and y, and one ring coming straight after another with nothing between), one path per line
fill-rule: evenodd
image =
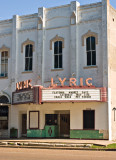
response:
M71 2L71 21L70 21L70 59L71 59L71 75L78 77L78 7L80 3Z

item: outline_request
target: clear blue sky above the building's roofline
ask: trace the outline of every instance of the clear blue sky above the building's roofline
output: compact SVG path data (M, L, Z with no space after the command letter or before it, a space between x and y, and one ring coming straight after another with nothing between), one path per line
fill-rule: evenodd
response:
M0 0L0 20L10 19L13 15L27 15L38 12L38 8L50 8L70 4L75 0ZM101 2L101 0L78 0L80 5ZM116 0L110 0L116 8Z

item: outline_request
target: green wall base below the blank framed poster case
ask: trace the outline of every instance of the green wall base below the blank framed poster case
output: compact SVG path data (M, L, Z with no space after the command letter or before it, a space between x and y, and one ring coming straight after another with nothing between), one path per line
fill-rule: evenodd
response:
M38 129L28 129L27 130L27 137L45 137L45 130L38 130Z

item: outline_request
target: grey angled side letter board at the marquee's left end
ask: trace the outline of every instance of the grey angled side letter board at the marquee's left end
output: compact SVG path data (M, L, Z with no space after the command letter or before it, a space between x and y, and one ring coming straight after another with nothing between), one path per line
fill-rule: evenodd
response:
M31 103L33 102L33 89L30 90L23 90L20 92L14 92L12 103L19 104L19 103Z

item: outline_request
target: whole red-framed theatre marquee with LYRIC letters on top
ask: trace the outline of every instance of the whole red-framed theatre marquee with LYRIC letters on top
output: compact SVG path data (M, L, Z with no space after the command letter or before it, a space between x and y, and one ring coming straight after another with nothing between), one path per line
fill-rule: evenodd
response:
M85 80L83 78L77 80L69 78L69 86L65 86L66 78L58 78L60 86L58 86L53 78L51 78L51 85L44 88L40 85L32 86L32 80L18 82L16 84L16 92L13 93L12 103L36 103L42 102L106 102L107 89L105 87L96 88L92 85L92 78Z

